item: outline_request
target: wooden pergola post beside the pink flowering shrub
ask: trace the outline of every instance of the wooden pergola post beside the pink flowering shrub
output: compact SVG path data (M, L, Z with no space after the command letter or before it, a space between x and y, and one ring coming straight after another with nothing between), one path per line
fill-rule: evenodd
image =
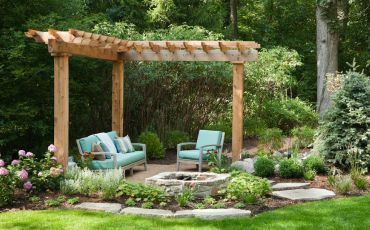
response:
M58 149L55 156L66 170L69 147L69 55L59 53L52 55L54 56L54 145Z

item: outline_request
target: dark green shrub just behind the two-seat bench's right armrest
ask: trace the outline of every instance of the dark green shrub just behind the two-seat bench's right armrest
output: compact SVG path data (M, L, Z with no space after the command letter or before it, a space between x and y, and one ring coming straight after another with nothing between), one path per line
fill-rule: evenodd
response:
M140 134L139 142L146 144L146 154L149 159L161 159L165 149L156 133L145 131Z

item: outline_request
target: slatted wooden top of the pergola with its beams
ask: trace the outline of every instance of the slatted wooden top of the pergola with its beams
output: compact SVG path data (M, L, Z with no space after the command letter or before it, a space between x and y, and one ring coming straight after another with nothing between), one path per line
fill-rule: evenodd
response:
M27 37L45 43L52 55L70 54L110 61L256 61L253 41L129 41L70 29L28 30Z

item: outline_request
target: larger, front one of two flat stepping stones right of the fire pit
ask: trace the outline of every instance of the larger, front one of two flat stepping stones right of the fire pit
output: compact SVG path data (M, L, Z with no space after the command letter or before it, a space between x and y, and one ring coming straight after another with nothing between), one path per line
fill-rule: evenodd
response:
M272 192L273 196L289 200L322 200L335 196L335 193L326 189L294 189Z

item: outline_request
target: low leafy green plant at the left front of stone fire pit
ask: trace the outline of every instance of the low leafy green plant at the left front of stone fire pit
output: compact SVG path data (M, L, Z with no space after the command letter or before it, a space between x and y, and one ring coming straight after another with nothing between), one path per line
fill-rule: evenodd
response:
M160 203L166 201L166 193L157 187L140 183L124 182L119 185L116 197L126 196L136 201Z

